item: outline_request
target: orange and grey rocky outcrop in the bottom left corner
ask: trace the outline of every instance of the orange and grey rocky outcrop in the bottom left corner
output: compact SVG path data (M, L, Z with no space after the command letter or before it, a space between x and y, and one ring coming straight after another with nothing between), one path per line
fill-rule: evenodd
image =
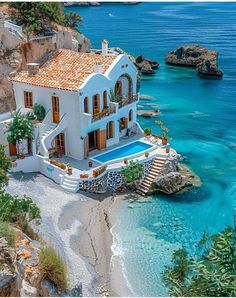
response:
M81 283L66 292L45 279L39 266L40 243L31 240L17 229L19 241L16 247L8 245L0 237L0 297L79 297L82 295Z

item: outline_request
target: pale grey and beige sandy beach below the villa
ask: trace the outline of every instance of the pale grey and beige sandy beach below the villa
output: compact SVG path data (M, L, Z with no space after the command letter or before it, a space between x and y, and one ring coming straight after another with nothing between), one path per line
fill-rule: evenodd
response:
M36 228L65 259L71 287L81 282L83 296L133 296L111 249L111 228L127 194L69 193L38 173L11 175L6 190L40 207Z

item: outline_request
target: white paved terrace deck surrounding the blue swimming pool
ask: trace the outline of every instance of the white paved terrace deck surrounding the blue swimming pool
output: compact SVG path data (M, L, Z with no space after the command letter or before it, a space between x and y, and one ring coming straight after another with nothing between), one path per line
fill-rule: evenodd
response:
M90 152L90 157L86 160L76 160L76 159L68 157L68 156L56 158L56 160L59 162L69 164L71 167L73 167L72 176L74 176L74 177L78 177L78 175L83 174L83 173L88 173L89 177L92 177L93 169L103 165L103 163L99 163L99 162L93 160L93 157L95 157L96 155L111 151L113 149L117 149L119 147L128 145L134 141L142 141L142 142L152 145L152 147L150 149L145 150L145 152L146 151L149 152L149 158L154 157L156 155L161 155L161 156L168 155L165 151L165 148L163 148L163 146L150 143L147 137L144 137L143 134L138 133L138 134L130 136L130 137L123 137L120 139L120 142L118 144L110 146L104 150L94 150L94 151ZM135 154L135 156L134 155L131 155L130 157L127 156L127 158L128 158L128 160L142 161L146 157L144 156L144 152L141 152L141 153ZM107 170L109 170L109 169L115 170L115 169L121 168L122 166L124 166L123 160L124 160L124 158L106 162L105 164L107 165ZM89 161L92 161L92 163L93 163L92 167L89 167L89 165L88 165Z

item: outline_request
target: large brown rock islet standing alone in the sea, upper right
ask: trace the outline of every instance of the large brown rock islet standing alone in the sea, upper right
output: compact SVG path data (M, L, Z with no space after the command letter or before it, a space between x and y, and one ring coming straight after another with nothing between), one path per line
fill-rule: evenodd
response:
M217 60L216 51L210 51L200 45L181 46L166 55L167 64L194 66L199 75L208 77L223 76L223 72L218 69Z

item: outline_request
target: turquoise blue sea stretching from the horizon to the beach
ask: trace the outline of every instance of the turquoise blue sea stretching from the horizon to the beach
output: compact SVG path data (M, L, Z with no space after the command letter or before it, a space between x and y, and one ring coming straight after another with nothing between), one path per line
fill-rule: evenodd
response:
M71 9L71 8L70 8ZM106 38L134 55L160 62L155 76L143 77L141 109L159 108L170 128L172 146L200 176L202 186L178 196L156 196L148 203L124 202L113 229L113 249L134 294L166 295L161 271L173 249L194 251L207 229L232 224L236 207L236 3L104 4L74 8L83 31L100 47ZM219 51L222 80L199 78L194 69L167 66L165 54L182 44ZM158 132L155 118L139 118Z

